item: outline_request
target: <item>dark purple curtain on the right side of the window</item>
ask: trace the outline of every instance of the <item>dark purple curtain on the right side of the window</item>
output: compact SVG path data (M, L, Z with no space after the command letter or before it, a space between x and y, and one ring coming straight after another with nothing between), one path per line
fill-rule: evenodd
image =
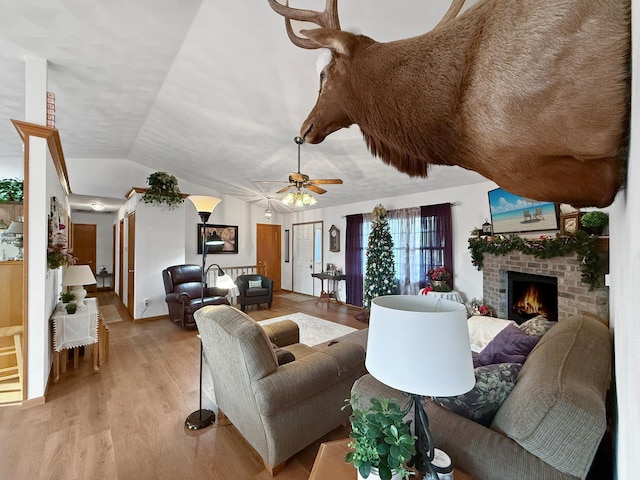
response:
M451 204L426 205L420 207L422 217L422 246L420 278L426 285L430 268L445 267L451 272L453 286L453 238L451 228ZM421 285L424 286L424 285Z

